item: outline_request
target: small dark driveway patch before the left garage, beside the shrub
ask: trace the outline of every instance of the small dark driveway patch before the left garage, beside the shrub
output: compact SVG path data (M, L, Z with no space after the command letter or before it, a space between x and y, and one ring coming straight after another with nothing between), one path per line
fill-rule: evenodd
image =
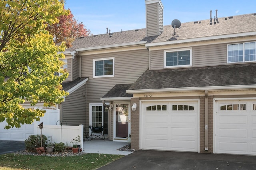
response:
M0 140L0 154L7 154L25 150L24 141Z

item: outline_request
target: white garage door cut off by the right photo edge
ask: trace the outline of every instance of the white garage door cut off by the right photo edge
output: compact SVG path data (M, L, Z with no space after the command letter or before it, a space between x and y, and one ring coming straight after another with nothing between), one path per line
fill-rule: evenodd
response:
M256 101L218 100L215 152L256 155Z

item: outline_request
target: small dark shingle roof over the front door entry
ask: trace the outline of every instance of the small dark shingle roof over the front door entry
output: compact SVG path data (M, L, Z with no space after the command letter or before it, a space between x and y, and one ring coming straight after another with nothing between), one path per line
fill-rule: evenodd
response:
M102 98L108 98L108 97L133 97L132 94L126 93L126 90L128 90L131 85L132 84L119 84L119 85L115 85Z

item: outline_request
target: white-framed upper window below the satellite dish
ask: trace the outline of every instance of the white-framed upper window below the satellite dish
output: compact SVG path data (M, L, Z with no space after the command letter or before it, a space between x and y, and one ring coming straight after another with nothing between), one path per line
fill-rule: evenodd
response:
M187 67L192 65L192 49L164 51L164 68Z

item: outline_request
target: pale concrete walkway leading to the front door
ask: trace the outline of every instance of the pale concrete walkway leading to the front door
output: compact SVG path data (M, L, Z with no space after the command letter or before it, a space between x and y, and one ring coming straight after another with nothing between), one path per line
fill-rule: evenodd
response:
M111 140L93 139L86 140L84 142L84 148L82 152L85 153L99 153L99 154L116 154L116 155L128 155L133 152L117 150L123 146L128 145L127 142L113 142Z

